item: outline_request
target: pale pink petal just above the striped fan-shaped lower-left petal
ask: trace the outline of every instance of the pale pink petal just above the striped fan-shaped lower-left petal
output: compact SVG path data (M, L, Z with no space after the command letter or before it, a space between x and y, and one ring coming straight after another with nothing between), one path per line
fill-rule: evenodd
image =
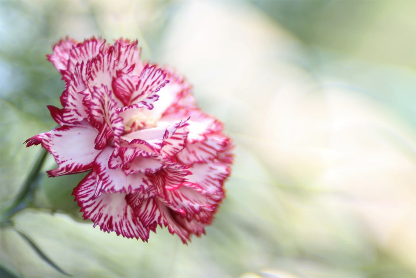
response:
M121 168L110 169L108 164L112 153L113 148L107 147L94 160L92 168L97 174L94 197L102 193L144 192L151 188L151 181L146 173L126 175Z

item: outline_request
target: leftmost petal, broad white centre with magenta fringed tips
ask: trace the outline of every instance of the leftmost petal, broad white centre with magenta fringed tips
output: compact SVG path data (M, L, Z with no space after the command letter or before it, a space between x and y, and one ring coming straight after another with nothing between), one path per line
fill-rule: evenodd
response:
M56 177L91 170L92 162L99 154L99 151L94 149L96 136L97 130L84 120L35 135L26 140L26 143L27 147L42 144L42 147L54 156L58 168L47 173Z

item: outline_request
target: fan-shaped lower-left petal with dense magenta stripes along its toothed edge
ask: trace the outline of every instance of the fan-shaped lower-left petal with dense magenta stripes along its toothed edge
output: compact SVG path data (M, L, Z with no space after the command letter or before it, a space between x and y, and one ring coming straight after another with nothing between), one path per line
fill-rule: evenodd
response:
M136 238L143 241L149 239L149 230L144 228L127 204L125 193L102 194L94 197L96 175L89 173L74 188L72 195L81 207L84 219L91 219L94 227L98 225L104 232L116 232L126 238Z

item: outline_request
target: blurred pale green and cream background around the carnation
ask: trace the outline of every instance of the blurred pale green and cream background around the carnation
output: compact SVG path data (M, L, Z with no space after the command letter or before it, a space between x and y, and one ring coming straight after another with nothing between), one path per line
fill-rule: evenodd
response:
M413 0L1 0L0 207L40 153L23 142L56 125L64 83L45 54L66 35L138 38L236 156L188 246L102 233L70 195L82 175L43 175L34 208L0 225L0 276L416 277L415 15Z

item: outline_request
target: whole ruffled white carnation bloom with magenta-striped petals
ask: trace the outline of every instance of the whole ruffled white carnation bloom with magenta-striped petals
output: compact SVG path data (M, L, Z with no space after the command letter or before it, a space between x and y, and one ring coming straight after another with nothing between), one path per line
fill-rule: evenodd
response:
M233 161L223 124L203 113L175 71L141 62L137 41L66 38L48 55L62 74L60 127L35 135L60 176L88 172L73 195L106 232L149 239L168 227L183 243L205 233Z

